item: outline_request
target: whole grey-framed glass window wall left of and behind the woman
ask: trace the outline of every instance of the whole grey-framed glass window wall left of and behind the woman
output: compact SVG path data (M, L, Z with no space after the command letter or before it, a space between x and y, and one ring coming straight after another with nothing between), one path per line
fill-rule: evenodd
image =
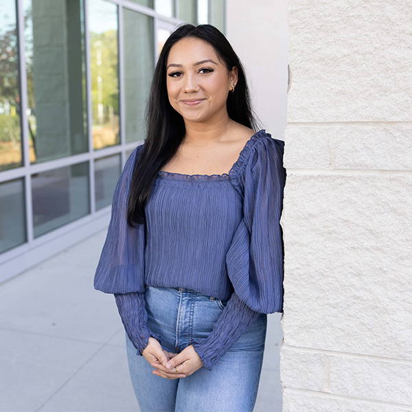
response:
M157 53L183 22L223 30L224 9L224 0L0 0L0 271L34 247L47 258L49 240L109 216L146 136Z

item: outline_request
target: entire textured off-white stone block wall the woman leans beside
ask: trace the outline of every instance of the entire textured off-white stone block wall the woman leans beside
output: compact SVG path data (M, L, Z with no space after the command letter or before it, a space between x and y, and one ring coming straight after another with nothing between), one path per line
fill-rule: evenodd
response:
M289 1L285 412L412 411L411 21Z

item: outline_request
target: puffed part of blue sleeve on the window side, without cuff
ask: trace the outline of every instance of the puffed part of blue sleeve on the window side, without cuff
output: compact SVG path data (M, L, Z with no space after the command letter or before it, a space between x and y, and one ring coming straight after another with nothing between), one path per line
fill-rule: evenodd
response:
M143 145L126 161L115 187L106 241L95 271L94 287L104 293L144 293L145 225L128 226L130 181Z

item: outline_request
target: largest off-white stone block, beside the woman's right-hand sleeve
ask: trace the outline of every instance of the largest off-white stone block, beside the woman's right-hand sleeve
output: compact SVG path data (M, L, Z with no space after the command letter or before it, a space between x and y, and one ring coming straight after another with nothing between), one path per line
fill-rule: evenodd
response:
M285 343L412 359L412 176L289 174Z

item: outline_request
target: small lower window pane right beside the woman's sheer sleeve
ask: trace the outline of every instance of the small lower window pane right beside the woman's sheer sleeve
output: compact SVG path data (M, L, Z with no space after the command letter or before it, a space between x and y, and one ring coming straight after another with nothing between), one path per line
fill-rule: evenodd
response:
M120 155L95 160L96 210L110 205L121 173Z

